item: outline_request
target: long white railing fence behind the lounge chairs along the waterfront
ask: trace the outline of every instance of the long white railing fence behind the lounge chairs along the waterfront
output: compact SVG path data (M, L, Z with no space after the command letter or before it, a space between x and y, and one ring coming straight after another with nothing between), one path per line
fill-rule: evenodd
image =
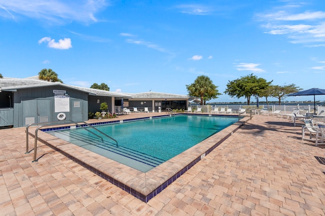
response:
M232 109L234 113L238 112L240 109L246 109L249 113L251 109L257 109L256 105L188 105L192 110L197 110L199 107L202 112L211 112L214 108L225 108L225 110ZM314 111L314 106L312 105L259 105L258 109L264 109L269 112L274 112L275 110L281 110L281 113L287 114L294 111L294 109L303 110L307 113L320 113L322 110L325 111L324 106L316 106L316 112Z

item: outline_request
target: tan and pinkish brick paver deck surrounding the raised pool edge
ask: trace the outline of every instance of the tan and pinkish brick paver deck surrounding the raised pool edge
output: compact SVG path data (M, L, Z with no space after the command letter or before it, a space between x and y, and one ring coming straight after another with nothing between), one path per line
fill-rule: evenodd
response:
M135 115L148 114L121 118ZM0 130L0 214L325 214L325 148L285 118L254 116L148 203L46 145L38 154L25 154L25 128Z

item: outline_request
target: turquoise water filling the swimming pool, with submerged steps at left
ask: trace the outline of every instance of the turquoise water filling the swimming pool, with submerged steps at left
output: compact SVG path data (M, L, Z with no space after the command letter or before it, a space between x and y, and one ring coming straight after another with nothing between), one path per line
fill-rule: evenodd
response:
M82 128L47 132L141 171L171 159L238 121L238 117L176 115L95 126L117 140Z

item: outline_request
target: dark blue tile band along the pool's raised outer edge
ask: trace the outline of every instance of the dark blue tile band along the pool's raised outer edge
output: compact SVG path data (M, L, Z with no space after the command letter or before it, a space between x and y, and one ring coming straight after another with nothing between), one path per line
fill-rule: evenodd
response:
M165 117L165 116L169 116L169 115L161 115L161 116L155 116L155 117ZM236 116L234 116L236 117ZM150 117L145 117L145 118L141 118L141 119L149 119ZM140 118L139 118L140 119ZM59 153L63 154L64 156L66 156L67 158L75 161L76 163L82 165L83 167L87 168L88 170L92 171L95 175L98 175L99 177L105 179L106 181L110 182L111 184L119 187L120 189L128 192L129 194L133 195L134 197L140 199L143 202L148 202L150 199L152 199L154 196L156 196L158 193L160 193L161 191L163 191L166 187L168 187L170 184L172 184L174 181L176 181L181 175L183 175L188 169L190 169L193 165L195 165L196 163L198 163L202 158L204 158L207 154L209 154L211 151L213 151L217 146L219 146L223 141L225 141L227 138L229 138L233 133L235 133L241 126L243 126L247 121L249 120L249 117L244 117L242 118L240 121L234 123L233 125L237 126L231 131L229 132L225 137L223 137L222 139L220 139L217 143L215 143L212 147L210 147L208 150L206 150L203 154L201 154L199 157L197 157L196 159L192 160L190 163L188 163L185 167L183 167L181 170L179 170L178 172L176 172L175 175L173 175L171 178L169 178L167 181L165 181L163 184L161 184L160 186L158 186L156 189L154 189L152 192L148 193L147 195L142 194L140 192L138 192L137 190L133 189L132 187L129 187L127 185L125 185L124 183L110 177L109 175L105 174L103 171L91 166L88 163L83 162L82 160L72 156L71 154L64 152L63 150L53 146L52 144L48 143L47 141L39 138L39 140L48 145L49 147L51 147L52 149L58 151ZM61 127L59 127L61 128Z

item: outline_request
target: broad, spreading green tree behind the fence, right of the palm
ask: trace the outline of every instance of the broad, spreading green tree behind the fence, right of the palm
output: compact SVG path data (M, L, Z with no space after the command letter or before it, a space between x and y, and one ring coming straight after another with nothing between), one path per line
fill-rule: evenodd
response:
M257 76L250 74L229 81L224 93L230 95L232 98L245 97L247 99L247 105L249 105L250 97L262 96L262 91L268 88L272 81L267 82L264 78L258 78Z

